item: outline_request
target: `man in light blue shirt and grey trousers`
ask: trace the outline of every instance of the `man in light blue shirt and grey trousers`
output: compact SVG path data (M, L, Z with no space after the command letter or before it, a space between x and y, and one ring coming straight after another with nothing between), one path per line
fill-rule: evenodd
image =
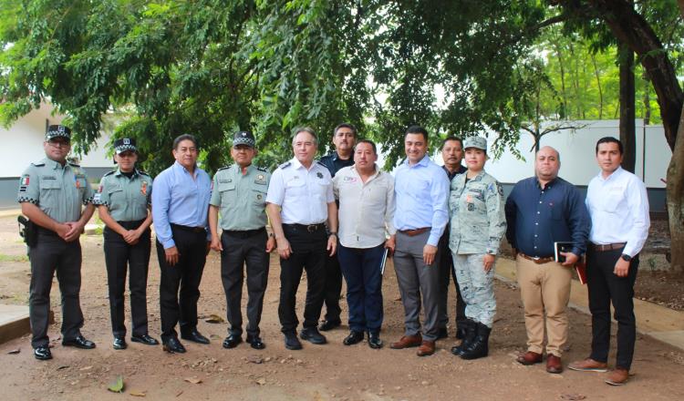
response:
M427 156L428 132L409 127L404 137L406 160L395 174L394 269L404 304L406 330L394 349L419 346L417 355L432 355L438 334L438 243L449 221L449 178ZM425 322L420 330L420 296Z

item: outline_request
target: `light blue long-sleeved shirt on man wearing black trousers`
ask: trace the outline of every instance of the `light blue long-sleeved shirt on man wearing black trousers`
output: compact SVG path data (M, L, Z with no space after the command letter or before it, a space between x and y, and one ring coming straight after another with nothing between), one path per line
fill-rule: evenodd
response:
M152 188L154 231L164 249L176 245L171 235L171 224L207 227L212 180L206 171L195 166L193 178L190 171L176 161L161 171Z

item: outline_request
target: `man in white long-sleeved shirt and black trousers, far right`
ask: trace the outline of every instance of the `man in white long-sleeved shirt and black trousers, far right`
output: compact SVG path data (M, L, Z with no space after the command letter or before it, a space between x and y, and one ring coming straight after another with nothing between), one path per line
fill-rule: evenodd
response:
M592 315L591 355L570 364L573 370L606 372L610 346L610 303L617 320L617 361L606 383L627 383L637 327L634 282L638 253L648 237L648 197L644 183L622 170L622 143L612 137L596 142L601 172L589 182L586 207L592 228L587 246L586 275Z

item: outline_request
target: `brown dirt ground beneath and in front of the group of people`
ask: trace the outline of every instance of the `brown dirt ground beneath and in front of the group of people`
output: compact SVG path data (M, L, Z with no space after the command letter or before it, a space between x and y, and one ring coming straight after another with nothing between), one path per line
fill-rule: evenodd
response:
M255 351L246 344L223 349L227 324L210 324L211 314L225 316L219 258L212 253L202 279L200 331L212 344L184 342L188 353L170 355L161 346L130 343L129 349L111 348L109 301L101 236L82 237L84 263L81 305L86 317L82 329L98 347L94 350L65 348L59 325L50 327L54 359L36 361L30 338L0 344L0 387L3 400L178 399L178 400L579 400L579 399L684 399L684 353L648 336L637 336L632 379L627 386L606 386L602 374L565 371L549 375L543 365L523 366L514 356L525 347L520 295L511 283L497 283L497 320L492 331L491 354L463 361L449 350L455 339L438 343L438 352L420 358L415 349L392 350L389 342L403 331L403 314L397 280L389 265L385 273L386 346L372 350L363 342L345 346L347 326L326 334L329 344L304 342L304 350L285 349L279 332L277 303L279 263L271 260L269 287L261 324L266 348ZM27 304L29 268L25 249L16 235L16 221L0 218L0 303ZM150 262L148 301L150 334L159 338L159 265ZM300 287L301 318L306 280ZM451 293L452 294L452 293ZM57 283L52 304L60 321ZM343 317L346 303L342 300ZM588 355L590 320L586 314L569 312L570 341L564 362ZM11 354L19 350L18 353ZM611 364L615 355L611 354ZM123 394L107 387L123 377Z

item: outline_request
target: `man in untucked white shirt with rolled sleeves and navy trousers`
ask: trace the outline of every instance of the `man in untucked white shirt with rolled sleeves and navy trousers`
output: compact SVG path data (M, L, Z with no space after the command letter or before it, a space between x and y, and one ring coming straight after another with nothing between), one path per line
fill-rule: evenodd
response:
M394 250L394 179L376 165L378 152L358 141L354 165L339 171L333 189L339 200L339 259L347 280L350 333L343 344L357 344L368 332L368 346L382 347L382 274L385 248ZM389 240L385 232L389 233Z

